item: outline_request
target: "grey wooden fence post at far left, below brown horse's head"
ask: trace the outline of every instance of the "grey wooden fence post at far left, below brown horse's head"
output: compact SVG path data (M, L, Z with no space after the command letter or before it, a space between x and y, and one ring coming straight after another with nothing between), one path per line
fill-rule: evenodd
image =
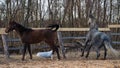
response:
M8 59L9 58L9 52L8 52L8 44L7 44L7 35L2 34L1 36L2 36L2 41L3 41L5 58Z

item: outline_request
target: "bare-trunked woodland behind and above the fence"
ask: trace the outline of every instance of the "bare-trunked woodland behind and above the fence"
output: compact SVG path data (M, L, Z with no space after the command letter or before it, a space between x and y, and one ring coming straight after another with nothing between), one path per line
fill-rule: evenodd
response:
M27 27L58 23L61 27L84 27L90 10L100 26L120 23L120 0L1 0L0 23L10 18Z

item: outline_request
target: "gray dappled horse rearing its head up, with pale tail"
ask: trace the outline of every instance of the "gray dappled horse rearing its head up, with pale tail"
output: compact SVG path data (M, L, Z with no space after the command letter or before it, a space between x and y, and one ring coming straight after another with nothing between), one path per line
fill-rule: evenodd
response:
M104 32L100 32L98 30L96 19L92 15L89 15L88 24L90 25L90 30L87 34L85 46L81 56L84 56L84 51L87 48L87 58L89 56L89 52L92 46L95 48L97 53L96 59L100 57L100 49L102 47L104 47L104 59L106 59L107 50L112 51L113 54L117 56L118 52L112 48L110 37Z

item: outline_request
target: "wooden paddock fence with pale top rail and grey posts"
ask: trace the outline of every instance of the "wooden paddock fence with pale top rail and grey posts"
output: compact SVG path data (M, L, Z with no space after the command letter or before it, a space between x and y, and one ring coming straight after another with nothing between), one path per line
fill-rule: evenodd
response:
M109 25L109 28L99 28L100 31L103 32L110 32L111 28L120 28L120 26L117 25ZM33 29L45 29L45 28L33 28ZM64 48L64 41L63 40L67 40L67 39L85 39L85 36L79 36L79 37L63 37L62 33L64 32L70 32L70 31L74 31L74 32L87 32L89 31L89 28L60 28L57 31L57 36L58 36L58 42L60 44L60 49L62 52L63 57L65 58L65 48ZM114 34L118 34L120 35L120 33L114 33ZM3 47L4 47L4 54L6 58L9 58L9 52L8 52L8 42L19 42L20 39L8 39L7 38L7 33L5 33L5 28L0 28L0 35L2 36L2 41L3 41ZM119 41L115 41L115 42L119 42Z

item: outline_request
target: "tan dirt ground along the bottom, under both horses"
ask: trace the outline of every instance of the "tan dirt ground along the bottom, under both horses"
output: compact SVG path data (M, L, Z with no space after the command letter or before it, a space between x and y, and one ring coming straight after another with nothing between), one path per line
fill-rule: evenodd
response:
M102 60L101 55L99 60L96 60L96 54L93 52L88 59L80 57L78 53L67 53L67 59L39 58L35 54L33 59L29 59L27 54L25 61L21 60L22 55L11 55L10 59L6 60L0 55L0 68L120 68L120 58L113 56L107 57L107 60Z

